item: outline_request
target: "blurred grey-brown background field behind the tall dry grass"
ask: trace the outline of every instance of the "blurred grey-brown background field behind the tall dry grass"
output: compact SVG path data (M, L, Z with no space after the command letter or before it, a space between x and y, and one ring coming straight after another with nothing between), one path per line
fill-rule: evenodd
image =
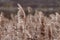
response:
M23 8L30 6L46 13L60 11L60 0L0 0L0 12L17 13L17 3Z

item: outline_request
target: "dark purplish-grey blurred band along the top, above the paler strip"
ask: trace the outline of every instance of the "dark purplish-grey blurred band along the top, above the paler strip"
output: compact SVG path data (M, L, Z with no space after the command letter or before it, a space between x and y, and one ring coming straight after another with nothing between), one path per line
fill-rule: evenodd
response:
M17 3L23 7L60 7L60 0L0 0L0 6L9 4L16 7Z

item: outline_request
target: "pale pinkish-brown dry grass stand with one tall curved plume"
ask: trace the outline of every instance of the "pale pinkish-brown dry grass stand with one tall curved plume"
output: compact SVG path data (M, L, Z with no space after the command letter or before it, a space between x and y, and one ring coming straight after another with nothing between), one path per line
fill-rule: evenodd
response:
M0 14L0 40L60 40L60 15L44 16L41 11L35 11L26 16L21 5L18 13L9 20Z

